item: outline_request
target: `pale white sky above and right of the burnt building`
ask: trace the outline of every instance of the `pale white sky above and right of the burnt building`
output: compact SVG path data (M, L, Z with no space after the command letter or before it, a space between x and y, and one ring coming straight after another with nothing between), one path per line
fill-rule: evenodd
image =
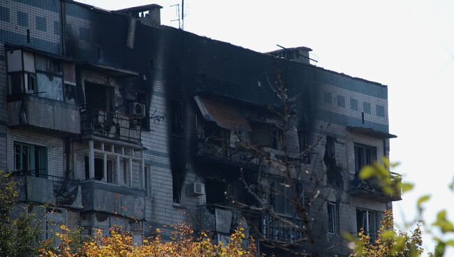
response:
M108 10L158 3L177 27L175 0L78 0ZM447 209L454 219L454 1L185 0L186 31L258 52L307 46L318 66L388 85L391 159L416 183L395 203L411 217L417 196L432 194L427 221ZM427 243L427 239L425 240ZM454 256L454 251L447 256Z

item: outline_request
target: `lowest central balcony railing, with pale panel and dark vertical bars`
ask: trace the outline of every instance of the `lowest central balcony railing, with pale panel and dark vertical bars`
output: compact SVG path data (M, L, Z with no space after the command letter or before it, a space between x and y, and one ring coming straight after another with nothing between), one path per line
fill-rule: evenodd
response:
M203 229L212 230L218 233L226 233L226 231L217 231L222 227L217 222L226 222L225 217L217 217L216 209L224 210L231 213L230 229L234 229L240 223L248 222L249 233L257 237L256 230L260 231L261 236L265 240L281 242L285 244L302 244L302 220L288 216L272 216L259 212L242 211L235 207L230 207L225 204L213 204L200 206L200 213L203 218ZM228 222L228 221L227 221ZM253 226L254 228L251 228Z

